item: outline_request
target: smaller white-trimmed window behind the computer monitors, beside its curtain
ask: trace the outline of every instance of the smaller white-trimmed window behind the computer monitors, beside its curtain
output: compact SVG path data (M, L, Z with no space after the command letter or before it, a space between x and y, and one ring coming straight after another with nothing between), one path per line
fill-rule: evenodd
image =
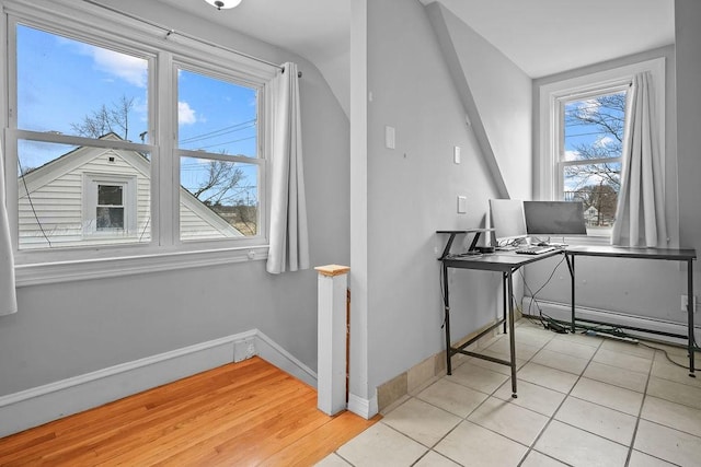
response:
M610 235L621 186L628 95L633 75L654 74L664 107L664 59L550 83L540 89L540 157L536 197L582 201L587 232ZM664 115L659 118L664 136ZM664 141L664 138L663 138Z

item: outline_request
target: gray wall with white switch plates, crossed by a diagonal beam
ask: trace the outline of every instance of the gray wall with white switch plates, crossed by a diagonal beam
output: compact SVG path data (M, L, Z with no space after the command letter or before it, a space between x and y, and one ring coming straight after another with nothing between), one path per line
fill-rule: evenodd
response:
M368 1L367 67L367 346L368 393L378 385L445 349L443 307L436 260L445 236L436 230L479 226L494 184L466 112L443 59L436 35L417 1ZM467 27L451 22L451 27ZM464 31L462 33L466 33ZM463 52L482 50L481 65L468 81L487 122L496 112L490 97L518 80L505 58L473 34ZM522 73L512 104L497 100L505 115L518 115L522 147L530 148L530 80ZM479 78L479 79L478 79ZM515 91L518 93L518 91ZM493 104L494 105L494 104ZM386 149L384 126L397 129L397 149ZM498 128L489 127L495 148L506 144ZM455 145L462 163L453 164ZM525 164L529 154L505 151L499 163ZM513 161L509 157L516 157ZM524 162L522 159L526 159ZM529 180L526 180L529 189ZM468 196L468 213L457 213L457 196ZM352 265L352 273L353 273ZM450 275L456 339L494 319L501 276L455 271ZM363 311L354 310L363 313ZM353 322L353 316L352 316Z

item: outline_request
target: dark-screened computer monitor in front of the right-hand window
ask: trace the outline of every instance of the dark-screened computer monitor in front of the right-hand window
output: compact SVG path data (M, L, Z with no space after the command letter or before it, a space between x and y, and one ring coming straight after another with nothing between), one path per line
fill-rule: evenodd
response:
M524 201L528 235L586 235L584 203L581 201Z

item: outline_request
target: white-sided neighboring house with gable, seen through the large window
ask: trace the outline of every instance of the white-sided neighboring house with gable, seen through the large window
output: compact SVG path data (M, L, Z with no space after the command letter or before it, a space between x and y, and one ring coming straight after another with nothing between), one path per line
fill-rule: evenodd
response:
M25 173L19 180L20 247L48 247L47 237L61 246L149 242L150 174L138 152L85 147ZM243 236L183 187L180 195L182 240Z

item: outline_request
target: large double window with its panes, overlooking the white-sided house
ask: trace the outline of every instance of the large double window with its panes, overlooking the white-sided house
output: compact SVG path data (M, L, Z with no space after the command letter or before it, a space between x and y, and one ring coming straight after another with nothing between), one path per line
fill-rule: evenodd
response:
M20 269L265 257L264 101L275 67L189 38L164 43L96 7L71 12L74 24L54 22L51 8L8 15L3 143Z

